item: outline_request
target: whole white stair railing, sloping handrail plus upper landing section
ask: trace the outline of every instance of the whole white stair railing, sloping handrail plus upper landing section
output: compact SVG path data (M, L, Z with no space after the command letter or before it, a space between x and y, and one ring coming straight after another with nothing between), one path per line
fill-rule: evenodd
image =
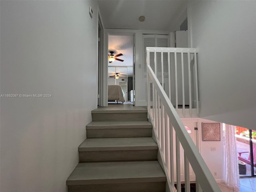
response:
M148 114L149 118L153 124L154 133L156 140L158 142L158 147L160 151L161 158L163 160L164 171L166 172L167 182L170 190L175 190L174 188L174 176L176 176L177 192L181 192L181 164L180 164L180 144L184 150L184 180L185 180L185 191L190 192L190 173L189 164L191 165L195 175L196 175L196 191L204 192L221 192L218 184L216 183L214 177L212 176L208 166L204 162L198 148L194 144L193 140L190 138L186 128L184 127L180 117L177 114L177 94L176 94L176 110L174 109L170 98L166 95L166 92L162 85L157 79L156 74L150 67L150 52L161 53L163 58L163 52L168 52L168 64L170 65L170 53L174 53L174 64L176 63L176 54L184 52L194 53L194 64L197 65L196 53L197 50L194 48L146 48L147 50L147 70L148 70ZM190 55L190 54L188 54ZM163 59L161 58L161 63L163 66ZM189 61L190 59L188 59ZM154 58L154 64L156 69L156 57ZM183 68L183 67L182 67ZM163 67L162 67L163 69ZM170 72L170 68L168 70ZM163 73L163 70L162 70ZM197 76L197 75L196 75ZM169 74L170 78L170 74ZM176 79L176 78L175 78ZM152 84L152 86L150 86ZM177 82L175 82L177 84ZM182 83L184 84L184 82ZM152 90L150 90L150 87ZM182 86L184 87L184 86ZM197 85L196 85L197 89ZM170 90L170 89L169 89ZM150 92L152 91L152 102L150 99ZM183 91L184 95L184 91ZM169 95L170 97L170 95ZM198 94L197 94L198 99ZM184 100L184 99L183 99ZM198 103L198 102L197 102ZM151 108L152 106L152 108ZM198 104L197 104L198 108ZM173 135L175 132L175 145ZM176 160L174 160L174 154ZM176 162L176 168L174 168L174 162ZM176 169L176 172L174 170Z

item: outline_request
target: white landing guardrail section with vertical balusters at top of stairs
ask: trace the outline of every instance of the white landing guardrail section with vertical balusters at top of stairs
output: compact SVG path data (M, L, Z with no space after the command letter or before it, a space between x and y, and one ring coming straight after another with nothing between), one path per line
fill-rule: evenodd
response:
M182 114L185 117L185 108L189 106L189 114L192 114L192 108L194 108L198 115L198 50L194 48L147 47L147 52L150 53L151 58L154 57L150 66L155 69L156 76L166 93L169 94L176 111L178 112L179 106L182 106Z

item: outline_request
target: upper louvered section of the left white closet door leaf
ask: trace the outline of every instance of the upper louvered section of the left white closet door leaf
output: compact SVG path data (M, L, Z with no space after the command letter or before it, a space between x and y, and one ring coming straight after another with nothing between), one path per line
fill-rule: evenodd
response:
M143 34L143 78L147 78L147 52L146 47L155 47L156 37L154 34ZM150 53L150 67L155 72L154 53Z

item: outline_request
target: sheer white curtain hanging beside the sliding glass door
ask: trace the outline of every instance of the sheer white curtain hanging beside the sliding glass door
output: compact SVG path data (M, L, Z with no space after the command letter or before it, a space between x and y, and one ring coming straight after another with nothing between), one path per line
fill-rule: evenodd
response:
M228 124L225 124L225 168L226 184L229 186L240 186L235 126Z

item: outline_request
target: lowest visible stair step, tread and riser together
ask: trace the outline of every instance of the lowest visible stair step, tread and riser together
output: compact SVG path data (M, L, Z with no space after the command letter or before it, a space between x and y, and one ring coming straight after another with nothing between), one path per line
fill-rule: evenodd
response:
M165 192L158 161L79 163L66 181L68 192Z

